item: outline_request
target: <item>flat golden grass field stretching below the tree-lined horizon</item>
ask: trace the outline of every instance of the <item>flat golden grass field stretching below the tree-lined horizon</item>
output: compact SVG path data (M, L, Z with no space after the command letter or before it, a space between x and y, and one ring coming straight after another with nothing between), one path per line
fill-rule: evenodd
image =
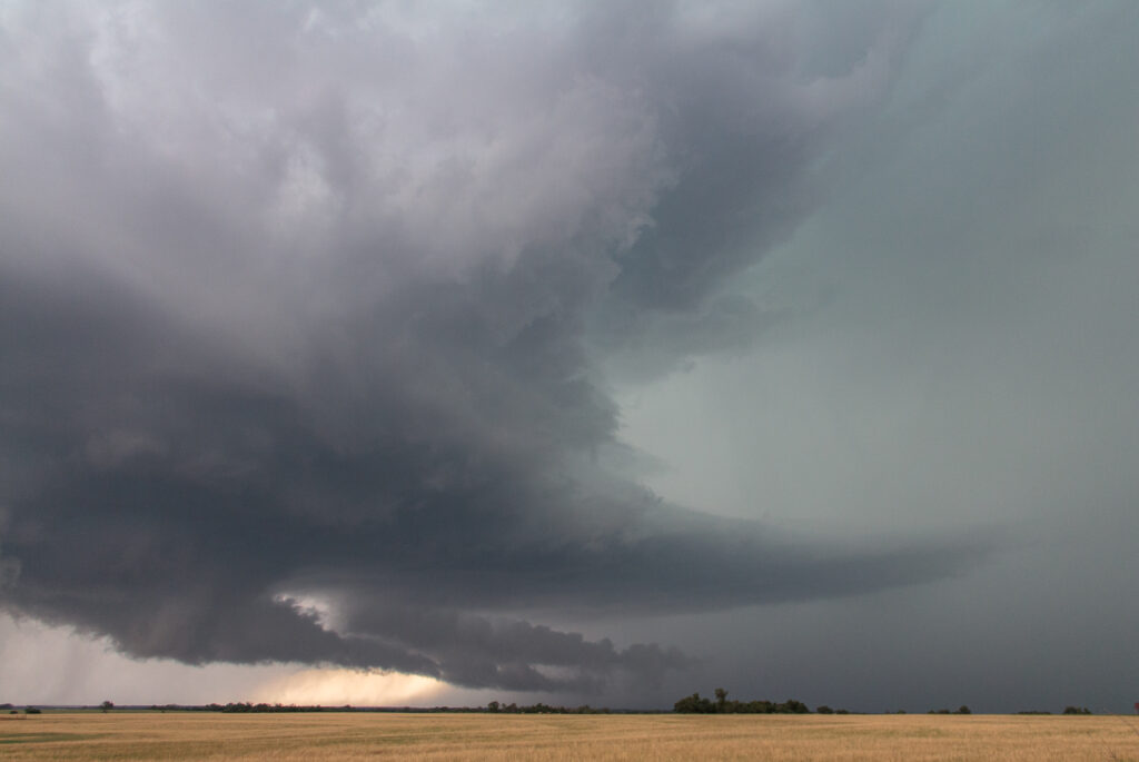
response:
M44 713L3 760L1136 760L1121 716Z

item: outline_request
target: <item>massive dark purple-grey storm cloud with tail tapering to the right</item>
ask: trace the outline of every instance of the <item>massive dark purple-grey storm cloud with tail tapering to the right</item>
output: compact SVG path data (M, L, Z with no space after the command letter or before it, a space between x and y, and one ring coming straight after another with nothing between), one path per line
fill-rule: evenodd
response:
M890 17L826 76L779 8L0 18L6 607L136 656L588 690L690 662L519 613L851 595L990 544L803 543L605 457L603 362L767 320L721 286L811 208Z

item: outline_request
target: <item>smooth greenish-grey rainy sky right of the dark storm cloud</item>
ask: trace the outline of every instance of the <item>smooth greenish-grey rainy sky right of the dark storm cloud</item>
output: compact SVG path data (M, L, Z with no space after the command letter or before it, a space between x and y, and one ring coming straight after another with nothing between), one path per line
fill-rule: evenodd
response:
M1131 3L936 6L836 144L825 204L734 284L784 318L743 357L618 396L674 500L847 538L998 522L1015 541L928 585L630 637L718 633L705 690L1130 711L1137 30ZM669 685L662 703L691 679Z

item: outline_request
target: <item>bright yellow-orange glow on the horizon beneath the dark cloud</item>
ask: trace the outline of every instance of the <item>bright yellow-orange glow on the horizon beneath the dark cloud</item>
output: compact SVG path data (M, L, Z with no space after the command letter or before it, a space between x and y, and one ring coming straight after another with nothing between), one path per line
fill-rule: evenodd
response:
M423 703L449 687L433 678L402 672L306 669L264 683L254 691L254 700L306 706L404 706Z

